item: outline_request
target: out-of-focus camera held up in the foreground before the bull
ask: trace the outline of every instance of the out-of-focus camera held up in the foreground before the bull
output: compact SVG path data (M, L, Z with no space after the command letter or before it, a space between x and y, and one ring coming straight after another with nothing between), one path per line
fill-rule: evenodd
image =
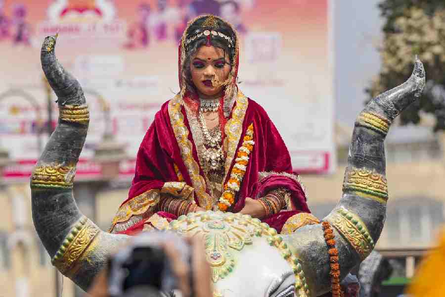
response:
M141 234L109 257L109 296L174 296L174 290L178 289L178 278L173 270L172 259L167 256L162 244L174 245L182 260L191 267L190 247L178 236L166 232Z

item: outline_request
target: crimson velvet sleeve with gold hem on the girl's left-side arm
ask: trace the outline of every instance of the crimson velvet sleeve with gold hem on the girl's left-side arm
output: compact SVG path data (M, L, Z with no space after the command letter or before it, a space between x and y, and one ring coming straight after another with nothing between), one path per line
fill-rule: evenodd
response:
M172 158L174 138L167 120L159 111L142 140L128 198L119 207L110 228L113 233L133 228L162 210L158 204L163 197L193 198L193 188L178 180Z

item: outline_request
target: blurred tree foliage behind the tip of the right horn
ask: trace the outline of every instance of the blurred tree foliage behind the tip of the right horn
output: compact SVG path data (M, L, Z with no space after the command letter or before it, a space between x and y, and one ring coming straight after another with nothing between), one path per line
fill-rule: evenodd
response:
M401 114L401 124L420 121L420 113L434 115L434 130L445 130L445 1L384 0L386 19L380 48L382 69L366 92L370 98L403 83L417 54L425 66L427 84L421 100Z

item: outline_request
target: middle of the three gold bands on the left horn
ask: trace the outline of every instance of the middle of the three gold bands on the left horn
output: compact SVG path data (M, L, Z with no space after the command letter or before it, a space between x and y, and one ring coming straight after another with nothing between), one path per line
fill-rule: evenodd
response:
M71 189L75 173L75 166L37 166L31 176L31 187Z

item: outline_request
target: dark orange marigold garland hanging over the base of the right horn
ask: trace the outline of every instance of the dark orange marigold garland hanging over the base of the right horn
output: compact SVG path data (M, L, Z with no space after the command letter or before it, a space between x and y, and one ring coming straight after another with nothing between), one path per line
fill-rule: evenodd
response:
M334 232L329 222L321 223L324 231L324 240L328 246L329 265L331 267L331 292L332 297L343 297L343 291L340 287L340 265L338 264L338 249L335 247Z

